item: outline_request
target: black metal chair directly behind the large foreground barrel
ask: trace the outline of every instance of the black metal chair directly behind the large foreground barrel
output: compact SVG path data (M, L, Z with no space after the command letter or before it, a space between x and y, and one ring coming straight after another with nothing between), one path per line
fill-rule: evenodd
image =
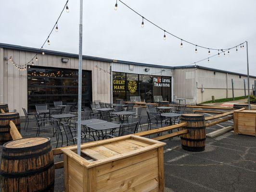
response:
M40 115L38 115L38 113L34 113L34 115L37 121L37 128L38 128L36 136L39 136L40 131L49 130L49 129L52 129L53 135L54 135L55 126L53 125L52 120L50 120L49 118L42 118Z

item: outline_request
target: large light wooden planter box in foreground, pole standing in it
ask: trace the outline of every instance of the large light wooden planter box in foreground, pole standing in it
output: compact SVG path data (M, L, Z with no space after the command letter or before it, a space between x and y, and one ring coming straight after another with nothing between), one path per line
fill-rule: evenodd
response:
M165 143L127 135L63 149L65 192L164 192Z

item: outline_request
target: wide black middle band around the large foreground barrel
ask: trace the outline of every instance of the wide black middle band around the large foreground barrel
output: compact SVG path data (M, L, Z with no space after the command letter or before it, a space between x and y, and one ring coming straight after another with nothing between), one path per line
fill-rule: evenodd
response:
M0 175L3 176L3 177L6 177L6 178L28 177L28 176L32 176L32 175L44 172L44 171L46 171L47 169L49 169L49 168L51 168L53 166L54 166L54 162L52 161L47 166L39 168L37 170L23 172L23 173L5 173L5 172L0 171Z

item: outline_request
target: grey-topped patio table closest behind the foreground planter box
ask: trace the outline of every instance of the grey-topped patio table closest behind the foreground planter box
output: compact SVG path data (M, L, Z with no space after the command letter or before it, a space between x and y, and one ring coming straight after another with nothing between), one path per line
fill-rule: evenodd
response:
M100 132L102 134L102 139L103 139L103 137L104 137L103 131L107 132L107 130L110 130L110 134L112 134L116 128L120 127L120 124L116 124L116 123L112 123L112 122L104 122L104 123L89 124L89 125L87 125L87 127L89 129L95 130L96 135L97 135L98 139L100 140L100 138L101 138Z

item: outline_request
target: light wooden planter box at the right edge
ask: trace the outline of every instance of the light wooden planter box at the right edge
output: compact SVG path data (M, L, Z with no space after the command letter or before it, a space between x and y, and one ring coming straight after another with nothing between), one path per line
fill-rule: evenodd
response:
M234 111L234 133L256 136L256 110Z

